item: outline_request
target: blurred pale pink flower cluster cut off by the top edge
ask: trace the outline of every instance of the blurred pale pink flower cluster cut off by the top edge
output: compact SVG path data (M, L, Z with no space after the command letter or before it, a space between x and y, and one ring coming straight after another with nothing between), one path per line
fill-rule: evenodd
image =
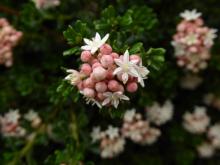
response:
M32 0L38 9L48 9L60 5L60 0Z

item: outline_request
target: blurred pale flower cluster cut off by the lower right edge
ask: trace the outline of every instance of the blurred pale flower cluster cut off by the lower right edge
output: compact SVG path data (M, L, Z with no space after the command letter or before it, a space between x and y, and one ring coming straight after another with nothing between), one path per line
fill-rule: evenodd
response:
M215 124L209 129L208 137L214 147L220 148L220 124Z

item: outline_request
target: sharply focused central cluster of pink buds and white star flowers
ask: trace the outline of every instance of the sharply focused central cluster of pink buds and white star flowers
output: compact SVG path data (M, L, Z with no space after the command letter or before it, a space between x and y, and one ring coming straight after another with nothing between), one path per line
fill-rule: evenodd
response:
M109 34L101 39L96 33L92 40L84 39L87 44L82 46L81 61L84 62L80 71L67 70L65 78L72 85L77 86L84 95L87 103L102 106L118 107L121 100L129 100L124 92L133 93L138 89L138 83L144 87L144 79L149 73L142 65L139 55L124 55L112 51L109 44L105 44Z

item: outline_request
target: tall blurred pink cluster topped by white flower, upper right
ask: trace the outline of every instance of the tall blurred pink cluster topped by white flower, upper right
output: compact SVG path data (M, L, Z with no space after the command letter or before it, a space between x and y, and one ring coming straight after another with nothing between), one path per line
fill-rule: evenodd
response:
M183 20L178 24L172 41L177 64L192 72L198 72L207 67L217 30L204 26L200 18L201 13L196 10L186 10L180 16Z

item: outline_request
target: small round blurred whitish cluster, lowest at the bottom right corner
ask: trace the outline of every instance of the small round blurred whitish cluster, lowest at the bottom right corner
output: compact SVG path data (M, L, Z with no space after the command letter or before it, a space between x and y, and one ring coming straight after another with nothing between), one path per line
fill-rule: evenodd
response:
M205 142L205 143L201 144L200 146L198 146L197 151L198 151L200 157L210 158L214 155L215 148L211 144Z

